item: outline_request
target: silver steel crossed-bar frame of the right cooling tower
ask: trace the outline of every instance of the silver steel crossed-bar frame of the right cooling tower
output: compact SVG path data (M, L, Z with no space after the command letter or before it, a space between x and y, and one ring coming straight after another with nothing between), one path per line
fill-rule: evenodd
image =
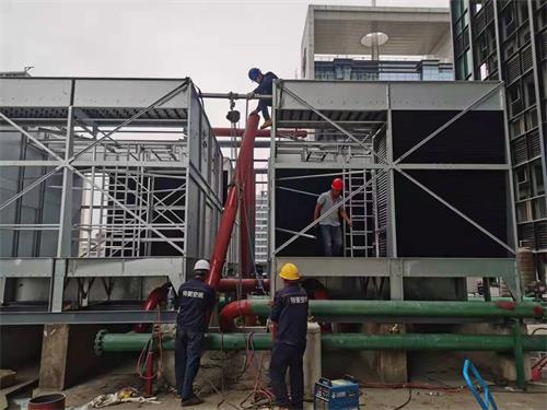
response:
M505 244L504 242L502 242L500 238L496 237L493 234L491 234L489 231L487 231L485 227L482 227L480 224L478 224L477 222L475 222L474 220L472 220L469 216L467 216L465 213L461 212L457 208L451 206L449 202L446 202L445 200L443 200L441 197L439 197L438 195L435 195L434 192L432 192L431 190L429 190L427 187L424 187L423 185L421 185L420 183L418 183L416 179L411 178L407 173L405 173L403 169L405 168L408 168L408 169L501 169L501 171L507 171L508 174L510 175L511 174L511 164L510 164L510 159L509 156L507 157L507 163L505 164L476 164L477 167L474 167L474 164L403 164L400 163L407 155L409 155L411 152L416 151L417 149L419 149L421 145L426 144L428 141L430 141L431 139L435 138L437 136L439 136L441 133L441 131L445 128L447 128L451 124L455 122L458 118L461 118L465 113L469 112L470 109L474 109L476 106L480 105L482 102L487 101L489 97L491 97L494 93L497 93L502 86L502 83L498 83L498 85L496 85L493 89L489 90L487 93L480 95L477 99L475 99L470 105L467 105L465 108L463 109L459 109L459 113L456 114L454 117L452 117L449 121L446 121L446 124L442 125L441 127L439 127L437 130L434 130L433 132L431 132L428 137L426 137L420 143L418 143L417 145L415 145L414 148L411 148L410 150L408 150L406 153L404 153L403 155L400 155L398 159L394 159L393 157L393 139L392 139L392 126L391 126L391 114L392 114L392 105L391 105L391 99L392 99L392 96L391 96L391 84L389 83L386 83L386 96L387 96L387 107L386 107L386 112L387 112L387 129L386 129L386 143L387 143L387 155L386 155L386 163L380 163L380 164L373 164L373 165L369 165L369 164L364 164L361 166L361 168L364 168L364 169L377 169L376 171L376 174L372 177L370 181L374 180L380 174L382 173L387 173L388 175L388 190L389 190L389 194L388 194L388 212L391 214L391 218L388 220L388 232L389 232L389 235L388 235L388 256L391 257L388 259L388 273L385 274L387 277L389 277L391 279L391 282L392 282L392 294L391 294L391 297L392 300L403 300L404 298L404 294L403 294L403 278L405 277L404 274L404 268L403 268L403 265L404 265L404 259L405 258L397 258L397 248L396 248L396 237L395 237L395 233L396 233L396 230L395 230L395 203L394 203L394 174L395 172L398 172L400 173L401 175L404 175L405 177L407 177L408 179L410 179L412 183L417 184L418 187L420 187L421 189L423 189L424 191L427 191L429 195L431 195L435 200L440 201L442 204L444 204L445 207L447 207L449 209L451 209L451 211L455 212L456 214L458 214L461 218L463 218L464 220L466 220L467 222L472 223L476 229L478 229L480 232L482 232L484 234L486 234L487 236L489 236L490 238L492 238L493 241L496 241L498 244L500 244L501 246L503 246L505 249L508 249L509 251L511 253L515 253L514 250L514 244L511 244L511 245L508 245ZM323 115L319 110L319 108L316 108L316 107L313 107L312 105L310 105L310 103L305 102L304 98L302 97L299 97L296 96L293 92L289 91L289 90L282 90L283 87L283 82L276 82L276 87L275 87L275 93L274 93L274 106L272 106L272 132L271 132L271 140L270 140L270 162L269 162L269 191L270 191L270 229L269 229L269 235L270 235L270 260L269 260L269 265L270 265L270 271L272 272L276 272L277 271L277 268L279 266L282 265L283 262L283 258L282 257L278 257L276 256L276 254L281 250L282 248L284 248L286 246L288 246L290 243L292 243L293 241L295 241L299 236L301 235L305 235L306 231L309 231L311 227L315 226L316 223L318 223L319 221L314 221L313 223L309 224L307 226L305 226L303 230L301 230L300 232L294 232L293 236L291 238L289 238L284 244L281 244L279 245L278 247L276 247L276 244L275 244L275 232L276 232L276 222L275 222L275 211L274 211L274 204L275 204L275 190L276 190L276 179L275 179L275 175L276 175L276 169L277 168L293 168L293 167L299 167L299 166L294 166L295 163L298 163L298 161L295 162L291 162L291 163L288 163L287 161L283 161L282 163L277 163L276 162L276 157L277 157L277 140L274 136L277 134L277 112L278 109L281 108L280 104L281 104L281 98L282 98L282 94L283 93L287 93L287 94L290 94L291 97L293 97L295 101L300 102L303 106L305 106L306 108L311 109L313 113L317 114L321 118L323 118L327 124L329 124L330 126L333 126L334 128L336 129L339 129L339 126L333 121L331 119L329 119L328 117L326 117L325 115ZM505 113L505 106L504 106L504 102L502 104L502 110ZM345 133L347 133L348 131L342 129L342 131ZM505 138L507 138L507 132L505 132ZM351 139L356 140L354 137L351 136ZM289 144L289 143L287 143ZM374 153L374 155L377 156L376 153ZM311 164L311 163L306 163L303 167L311 167L313 166L314 164ZM424 166L422 166L424 165ZM427 165L427 166L426 166ZM324 167L324 168L327 168L327 167L337 167L337 164L333 164L333 163L328 163L326 165L322 165L322 166L315 166L316 168L317 167ZM357 168L357 166L350 166L350 168ZM310 177L313 177L313 176L310 176ZM511 179L511 178L510 178ZM511 181L512 183L512 181ZM512 192L512 184L510 183L510 190ZM366 185L366 184L365 184ZM365 185L360 187L359 189L363 189L365 188ZM351 196L351 195L350 195ZM344 204L347 200L349 199L349 197L346 197L344 199L344 201L339 204ZM512 204L512 202L510 202ZM512 227L512 230L514 231L515 230L515 219L514 219L514 208L513 207L510 207L511 210L512 210L512 216L509 216L509 219L511 219L511 223L510 223L510 226ZM510 234L510 236L512 236ZM290 258L292 262L295 261L295 259L298 258ZM325 263L328 259L326 258L312 258L312 259L316 259L318 263ZM330 258L329 258L330 259ZM338 258L331 258L331 259L335 259L337 260L337 262L341 262L344 263L344 259L346 258L342 258L342 260L338 260ZM359 261L363 261L362 258L356 258L358 259ZM368 258L368 259L375 259L375 258ZM461 259L461 260L465 260L465 259ZM487 259L487 260L492 260L492 259ZM521 300L522 298L522 295L521 295L521 289L520 289L520 282L519 282L519 272L516 270L516 267L515 267L515 262L514 262L514 259L509 259L510 260L510 266L511 266L511 269L509 272L498 272L496 270L493 271L485 271L487 273L481 273L481 274L456 274L456 273L453 273L453 272L449 272L449 271L443 271L441 265L435 265L434 266L434 274L433 277L452 277L452 278L465 278L465 277L502 277L507 282L508 282L508 285L510 286L512 293L513 293L513 296L516 298L516 300ZM288 261L288 260L287 260ZM325 267L325 265L323 265ZM306 272L306 274L309 273L307 270L302 269L303 271ZM334 276L333 272L337 272L337 271L340 271L340 267L338 266L337 268L333 267L333 270L330 270L330 273L329 274L324 274L324 276ZM325 272L325 271L324 271ZM325 272L327 273L327 272ZM347 276L346 273L344 273L344 276ZM358 276L366 276L366 274L358 274ZM372 276L379 276L379 274L372 274ZM418 273L419 277L422 277L423 274L421 273ZM427 276L427 274L426 274ZM274 288L276 289L276 288Z

